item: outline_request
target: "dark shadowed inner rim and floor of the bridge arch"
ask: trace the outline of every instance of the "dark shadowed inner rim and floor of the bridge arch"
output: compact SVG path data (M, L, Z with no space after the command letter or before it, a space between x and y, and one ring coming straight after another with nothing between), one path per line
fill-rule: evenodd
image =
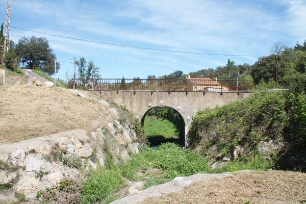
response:
M183 116L181 115L181 113L179 111L176 111L175 109L173 109L172 107L169 106L156 106L156 107L152 107L150 109L148 109L145 114L142 116L141 118L141 124L144 126L144 119L147 116L147 114L152 110L152 109L161 109L161 108L169 108L172 109L175 113L177 113L179 115L180 118L180 122L179 122L179 130L180 130L180 134L179 134L179 138L165 138L163 135L156 135L153 137L149 137L148 140L151 144L151 146L153 145L160 145L161 143L166 143L166 142L174 142L176 144L181 145L182 147L185 147L185 140L186 140L186 136L185 136L185 121ZM153 143L152 143L153 141Z

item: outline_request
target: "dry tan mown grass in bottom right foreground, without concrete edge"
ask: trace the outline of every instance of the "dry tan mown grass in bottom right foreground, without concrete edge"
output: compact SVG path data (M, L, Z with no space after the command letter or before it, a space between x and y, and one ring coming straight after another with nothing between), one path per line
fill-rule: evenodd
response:
M143 204L157 203L306 203L306 174L292 171L238 172L168 193Z

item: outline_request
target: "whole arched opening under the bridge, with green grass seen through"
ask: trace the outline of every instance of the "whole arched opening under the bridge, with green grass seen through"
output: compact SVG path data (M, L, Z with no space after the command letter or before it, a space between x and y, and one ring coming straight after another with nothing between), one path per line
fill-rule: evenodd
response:
M141 119L151 147L171 142L185 146L185 121L175 109L157 106L149 109Z

